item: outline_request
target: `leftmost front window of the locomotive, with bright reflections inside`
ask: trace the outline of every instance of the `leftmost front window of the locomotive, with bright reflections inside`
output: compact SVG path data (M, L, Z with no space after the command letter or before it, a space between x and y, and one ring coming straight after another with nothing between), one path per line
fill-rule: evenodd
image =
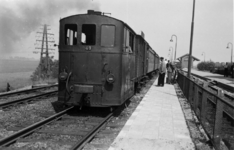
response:
M77 45L77 25L65 25L65 45Z

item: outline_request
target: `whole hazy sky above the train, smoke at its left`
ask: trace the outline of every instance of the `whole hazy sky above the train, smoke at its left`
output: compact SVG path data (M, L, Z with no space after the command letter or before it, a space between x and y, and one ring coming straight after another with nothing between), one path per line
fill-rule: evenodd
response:
M42 25L58 44L59 20L88 9L111 13L140 34L160 56L189 53L193 0L0 0L1 56L39 59L35 47ZM229 62L233 43L233 0L196 0L192 55L201 61ZM171 36L173 42L170 42ZM53 39L52 38L52 39ZM53 44L51 44L51 48ZM58 50L55 47L55 58ZM202 55L203 54L203 55ZM234 60L234 59L233 59Z

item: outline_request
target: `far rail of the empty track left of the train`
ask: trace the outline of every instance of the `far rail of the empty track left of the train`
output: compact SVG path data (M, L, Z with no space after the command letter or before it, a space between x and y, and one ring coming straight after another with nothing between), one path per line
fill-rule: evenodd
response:
M53 87L57 87L57 86L58 86L58 84L54 84L54 85L44 86L44 87L39 87L39 88L33 88L33 89L16 91L16 92L3 93L3 94L0 94L0 98L6 97L6 96L13 96L13 95L20 95L20 94L25 94L25 93L31 93L31 92L35 92L35 91L38 91L38 90L49 89L49 88L53 88Z

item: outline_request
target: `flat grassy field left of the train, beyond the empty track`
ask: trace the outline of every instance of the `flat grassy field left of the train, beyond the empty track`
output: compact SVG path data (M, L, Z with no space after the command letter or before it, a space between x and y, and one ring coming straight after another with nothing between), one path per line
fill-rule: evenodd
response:
M0 59L0 92L6 91L7 83L11 90L43 83L55 83L57 79L31 81L31 75L37 68L38 60Z

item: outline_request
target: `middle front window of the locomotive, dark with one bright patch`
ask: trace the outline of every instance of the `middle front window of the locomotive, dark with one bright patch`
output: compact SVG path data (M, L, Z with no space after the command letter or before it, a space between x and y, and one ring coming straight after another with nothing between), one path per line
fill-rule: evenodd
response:
M96 43L96 25L83 24L81 33L82 45L95 45Z

